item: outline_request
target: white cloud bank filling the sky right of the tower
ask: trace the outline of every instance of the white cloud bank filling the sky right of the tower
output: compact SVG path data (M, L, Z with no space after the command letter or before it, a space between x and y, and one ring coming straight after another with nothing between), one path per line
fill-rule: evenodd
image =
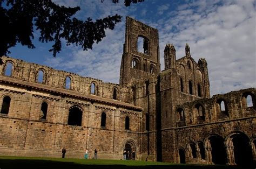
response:
M160 27L161 51L164 41L171 39L170 43L177 46L177 58L180 58L184 56L184 46L188 42L195 60L200 57L207 60L212 94L255 87L256 23L252 3L215 6L215 3L207 2L197 3L199 11L185 6L177 16L166 20L166 25L178 25L178 32L173 34ZM215 11L200 12L211 7Z

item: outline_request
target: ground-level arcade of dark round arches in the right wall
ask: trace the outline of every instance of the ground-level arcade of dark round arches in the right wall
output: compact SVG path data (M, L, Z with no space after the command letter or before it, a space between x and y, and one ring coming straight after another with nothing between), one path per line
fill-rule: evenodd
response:
M213 134L203 142L187 143L186 149L177 149L177 163L198 160L207 164L250 166L255 158L256 138L250 139L242 132L232 132L225 137Z

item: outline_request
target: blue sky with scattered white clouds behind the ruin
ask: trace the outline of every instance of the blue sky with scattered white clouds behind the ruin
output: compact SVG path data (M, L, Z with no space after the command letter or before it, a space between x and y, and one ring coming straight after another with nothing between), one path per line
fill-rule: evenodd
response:
M256 87L256 10L255 1L172 1L145 0L143 3L123 5L123 0L56 0L65 6L80 6L76 17L98 19L122 15L122 22L92 50L65 46L56 58L48 52L52 44L38 43L35 31L30 50L17 45L10 49L10 57L46 65L56 69L92 77L104 82L119 83L119 69L123 52L125 17L130 16L159 30L161 70L164 69L164 47L172 43L177 59L184 57L185 44L190 45L192 57L206 58L211 95L232 90Z

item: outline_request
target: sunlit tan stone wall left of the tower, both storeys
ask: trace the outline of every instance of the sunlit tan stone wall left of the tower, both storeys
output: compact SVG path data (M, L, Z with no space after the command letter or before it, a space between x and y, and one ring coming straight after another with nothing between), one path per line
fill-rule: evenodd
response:
M3 57L3 61L5 64L0 68L3 70L0 75L1 155L60 157L65 146L68 158L83 158L85 149L92 158L97 149L98 158L120 159L127 142L139 152L142 108L118 101L125 100L122 92L126 88L12 58ZM13 65L10 76L5 74L7 62ZM45 71L41 83L35 80L38 73L35 70L40 68ZM65 76L71 78L70 89L65 89ZM91 82L96 84L96 95L90 94ZM113 88L117 89L116 100ZM10 97L7 113L3 108L6 97ZM45 119L39 117L42 103L48 105ZM72 107L82 111L81 125L68 124ZM105 126L101 126L103 112ZM126 117L130 119L128 130L125 129Z

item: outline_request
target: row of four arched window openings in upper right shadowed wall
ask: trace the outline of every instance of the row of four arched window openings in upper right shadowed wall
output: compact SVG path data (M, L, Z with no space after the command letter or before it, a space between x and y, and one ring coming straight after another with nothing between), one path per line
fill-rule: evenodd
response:
M253 97L254 95L250 93L246 93L242 95L241 98L241 104L242 108L250 108L253 107ZM216 101L215 103L215 110L217 112L217 115L219 116L228 116L228 107L227 107L227 102L223 99L220 98ZM203 105L200 103L196 104L193 109L193 114L196 115L198 118L201 120L205 119L205 108ZM185 121L185 113L182 108L177 109L177 115L178 115L178 120L179 121Z

